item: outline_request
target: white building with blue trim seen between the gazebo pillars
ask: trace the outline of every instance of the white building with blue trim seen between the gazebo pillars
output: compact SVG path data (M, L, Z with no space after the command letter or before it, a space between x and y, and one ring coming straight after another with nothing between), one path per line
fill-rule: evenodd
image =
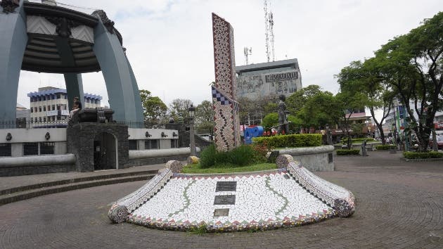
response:
M30 97L30 117L32 123L65 123L69 116L70 103L66 89L41 87L38 91L27 94ZM102 97L84 94L83 108L100 107Z

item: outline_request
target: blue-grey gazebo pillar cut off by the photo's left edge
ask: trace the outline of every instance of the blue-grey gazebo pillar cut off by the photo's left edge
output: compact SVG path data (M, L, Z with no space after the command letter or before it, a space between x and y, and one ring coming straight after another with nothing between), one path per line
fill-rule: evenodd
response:
M23 1L13 13L0 7L0 120L15 121L18 79L27 44Z

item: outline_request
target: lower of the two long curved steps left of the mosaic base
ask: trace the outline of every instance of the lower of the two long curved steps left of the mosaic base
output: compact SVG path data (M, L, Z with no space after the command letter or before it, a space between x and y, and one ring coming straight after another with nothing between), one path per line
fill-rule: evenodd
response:
M72 191L76 189L86 189L91 188L94 186L103 186L103 185L109 185L109 184L120 184L123 182L129 182L129 181L146 181L149 179L152 179L155 174L157 174L157 170L153 170L155 173L146 173L145 174L136 174L136 175L129 175L129 176L120 176L115 177L115 174L105 175L109 176L108 178L101 178L101 179L90 179L86 180L87 178L95 178L95 177L84 177L84 178L77 178L77 179L70 179L65 180L68 181L65 184L56 184L56 185L49 185L49 186L41 186L40 188L34 188L34 189L28 189L26 191L15 191L14 193L7 193L4 195L0 195L0 205L5 205L8 203L13 203L19 200L26 200L30 198L34 198L37 196L44 196L49 195L51 193L60 193L65 191ZM148 172L151 172L149 170ZM131 172L131 173L140 173L140 172ZM126 174L126 173L125 173ZM97 176L97 177L104 177L103 175ZM72 180L77 180L77 182L72 182ZM81 181L79 181L81 180ZM61 181L56 181L61 182ZM44 184L51 184L51 183L44 183ZM43 185L44 185L43 184ZM39 185L39 184L34 184ZM26 187L26 186L24 186ZM18 189L18 188L15 188Z

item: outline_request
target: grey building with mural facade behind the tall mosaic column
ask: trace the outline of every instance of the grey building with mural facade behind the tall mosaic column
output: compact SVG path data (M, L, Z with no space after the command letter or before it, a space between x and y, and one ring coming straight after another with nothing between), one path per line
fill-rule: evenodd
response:
M286 97L302 89L302 75L297 59L278 60L269 63L236 67L237 98L252 101Z

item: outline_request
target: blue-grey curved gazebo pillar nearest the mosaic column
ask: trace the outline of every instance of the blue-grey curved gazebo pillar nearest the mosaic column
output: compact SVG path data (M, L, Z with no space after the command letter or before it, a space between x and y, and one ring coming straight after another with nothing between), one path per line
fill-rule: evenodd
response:
M137 101L137 97L140 98L140 96L139 93L134 94L135 77L124 55L122 45L116 34L108 32L100 16L94 15L99 21L94 28L93 49L105 78L110 108L113 108L115 112L114 120L141 122L143 121L141 101ZM137 104L140 106L136 107Z

